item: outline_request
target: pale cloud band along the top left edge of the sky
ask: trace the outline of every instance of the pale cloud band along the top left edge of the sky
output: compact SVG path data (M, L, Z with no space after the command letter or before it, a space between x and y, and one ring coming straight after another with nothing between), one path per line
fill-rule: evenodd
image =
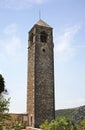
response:
M1 0L0 7L11 9L29 8L34 4L43 4L47 0Z

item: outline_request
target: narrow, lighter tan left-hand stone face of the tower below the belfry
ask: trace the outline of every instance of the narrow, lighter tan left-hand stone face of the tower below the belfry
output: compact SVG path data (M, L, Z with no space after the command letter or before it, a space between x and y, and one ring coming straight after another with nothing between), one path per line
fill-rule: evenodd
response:
M34 61L35 61L35 44L29 47L28 55L28 86L27 86L27 113L29 126L34 126Z

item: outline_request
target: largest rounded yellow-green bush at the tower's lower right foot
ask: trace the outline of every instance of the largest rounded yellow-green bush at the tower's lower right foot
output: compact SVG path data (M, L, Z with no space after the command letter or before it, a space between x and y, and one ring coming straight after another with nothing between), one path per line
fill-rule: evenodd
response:
M65 117L57 118L51 123L45 121L40 128L42 130L77 130L76 125Z

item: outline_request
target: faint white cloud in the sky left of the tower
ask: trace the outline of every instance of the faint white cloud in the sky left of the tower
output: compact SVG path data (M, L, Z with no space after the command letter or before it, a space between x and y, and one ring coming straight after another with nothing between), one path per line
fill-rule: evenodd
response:
M10 24L4 28L5 39L0 39L1 56L15 56L21 48L21 40L17 35L17 25ZM2 54L3 53L3 54Z

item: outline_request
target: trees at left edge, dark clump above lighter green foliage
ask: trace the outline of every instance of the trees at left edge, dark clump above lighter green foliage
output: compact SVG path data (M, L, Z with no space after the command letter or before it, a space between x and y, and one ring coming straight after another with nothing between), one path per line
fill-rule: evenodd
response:
M3 76L0 74L0 130L5 125L5 121L10 119L8 114L9 112L9 103L10 99L6 99L4 96L5 91L5 82Z

